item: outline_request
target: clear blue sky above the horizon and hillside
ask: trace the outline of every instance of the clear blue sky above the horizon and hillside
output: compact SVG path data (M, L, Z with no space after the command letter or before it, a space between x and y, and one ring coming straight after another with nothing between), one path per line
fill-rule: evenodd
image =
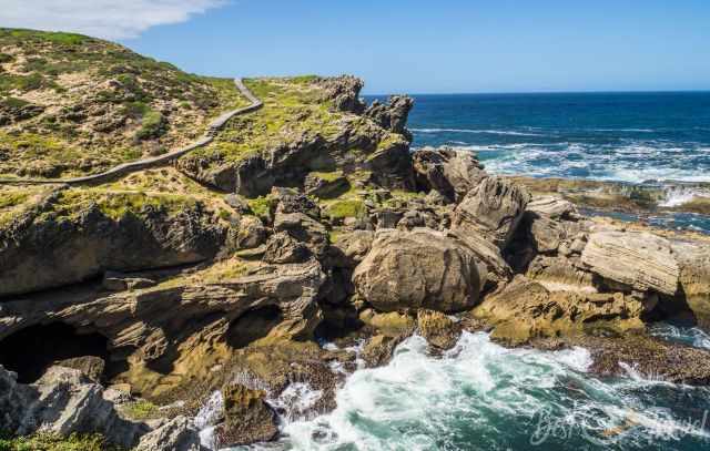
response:
M126 1L138 9L112 30L111 0L98 29L191 72L352 73L366 93L710 89L708 0L221 1L162 0L170 14ZM71 4L102 0L62 2L50 28L92 30L91 17L72 24Z

